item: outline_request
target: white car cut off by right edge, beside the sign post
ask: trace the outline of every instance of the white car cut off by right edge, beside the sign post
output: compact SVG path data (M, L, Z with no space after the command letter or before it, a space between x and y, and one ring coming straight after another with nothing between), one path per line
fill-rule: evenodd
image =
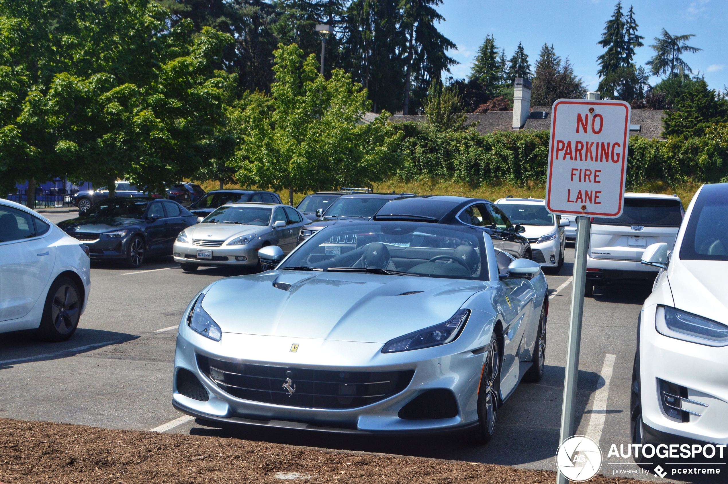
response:
M666 457L660 445L707 445L691 458L708 459L728 444L728 183L697 191L670 246L642 255L660 272L638 322L632 441L648 446L638 462Z

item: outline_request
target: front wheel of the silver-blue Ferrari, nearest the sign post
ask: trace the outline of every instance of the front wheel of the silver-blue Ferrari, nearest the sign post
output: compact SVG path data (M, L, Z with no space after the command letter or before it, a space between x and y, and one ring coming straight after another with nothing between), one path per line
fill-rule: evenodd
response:
M491 441L498 421L498 381L500 378L501 352L496 335L491 336L483 363L483 376L478 389L478 427L464 435L473 445L486 445Z

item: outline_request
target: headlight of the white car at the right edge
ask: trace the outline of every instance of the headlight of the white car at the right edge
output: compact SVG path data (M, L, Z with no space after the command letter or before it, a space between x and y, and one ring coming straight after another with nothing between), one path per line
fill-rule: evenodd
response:
M728 346L728 326L670 306L658 306L654 325L670 338L706 346Z

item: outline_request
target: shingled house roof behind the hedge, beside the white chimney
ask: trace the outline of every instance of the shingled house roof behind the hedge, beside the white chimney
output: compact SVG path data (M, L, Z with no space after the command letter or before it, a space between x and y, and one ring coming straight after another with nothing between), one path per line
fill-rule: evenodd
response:
M551 106L532 106L531 115L526 120L521 130L540 131L551 129ZM513 123L513 111L488 111L483 114L467 114L466 126L478 122L475 130L480 134L488 134L494 131L511 131ZM633 109L630 125L639 126L638 130L630 131L630 136L642 136L644 138L664 139L662 132L665 130L662 119L665 118L665 111L658 109ZM389 121L395 123L403 122L427 122L425 116L390 116Z

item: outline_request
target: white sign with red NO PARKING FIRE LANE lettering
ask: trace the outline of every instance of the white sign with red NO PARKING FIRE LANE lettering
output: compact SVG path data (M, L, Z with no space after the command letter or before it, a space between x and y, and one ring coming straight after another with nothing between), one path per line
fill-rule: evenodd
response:
M553 103L548 210L608 218L622 215L629 135L630 105L624 101Z

